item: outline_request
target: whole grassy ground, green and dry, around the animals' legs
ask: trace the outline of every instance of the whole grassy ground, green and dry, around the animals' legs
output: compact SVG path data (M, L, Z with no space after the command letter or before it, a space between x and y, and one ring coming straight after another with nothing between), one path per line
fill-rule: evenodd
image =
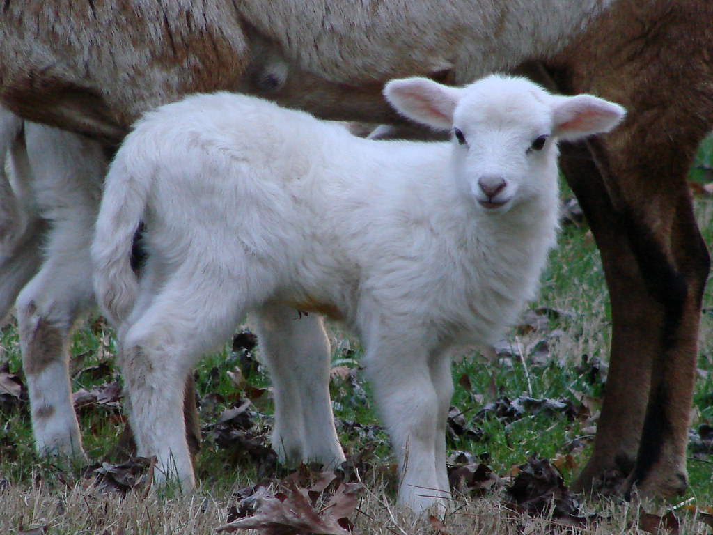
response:
M702 168L694 169L692 179L710 182L704 168L713 165L713 140L702 146L697 165ZM696 205L704 237L707 243L713 243L713 198L697 195ZM709 288L704 298L694 437L700 427L713 425L711 291ZM508 511L503 487L512 483L518 472L515 467L527 462L528 457L553 462L565 485L583 466L590 452L606 375L610 341L607 307L593 239L585 225L566 225L543 277L540 295L530 305L522 325L495 350L475 352L453 366L457 390L448 436L451 462L482 462L492 470L491 481L497 482L486 485L490 490L469 486L467 494L454 502L453 511L437 520L414 517L394 507L393 459L374 412L369 385L359 369L361 349L333 325L334 412L351 466L365 486L357 510L350 516L356 532L446 535L556 531L558 521L552 516ZM22 380L14 325L5 327L1 337L0 365L9 363L9 372ZM74 336L73 388L89 393L79 411L87 464L120 460L112 449L124 427L121 400L100 395L97 401L91 397L92 393L106 393L97 390L101 385L120 384L111 359L113 349L111 330L96 318ZM253 350L252 356L259 360L259 349ZM32 446L29 405L24 400L0 398L0 535L208 534L229 519L237 489L284 477L287 472L275 467L264 447L269 444L261 442L269 434L272 413L270 384L264 370L247 358L245 350L227 344L221 352L202 360L196 378L203 425L197 460L200 486L193 495L183 497L155 496L140 484L125 496L105 483L99 492L92 487L96 471L87 471L83 465L41 462ZM226 419L230 414L225 410L242 406L245 399L251 399L247 410ZM677 532L705 532L690 511L694 505L699 510L713 505L712 463L711 454L692 449L688 493L670 503L644 504L645 511L658 515L674 511L680 522ZM580 514L595 514L596 521L569 529L575 533L640 533L637 526L644 525L640 524L640 512L638 504L588 501L581 504Z

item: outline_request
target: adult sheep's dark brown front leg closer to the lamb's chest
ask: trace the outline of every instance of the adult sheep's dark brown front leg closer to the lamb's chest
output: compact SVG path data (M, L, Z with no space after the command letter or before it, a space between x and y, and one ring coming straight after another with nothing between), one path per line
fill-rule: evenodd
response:
M595 142L593 142L595 143ZM612 307L612 348L605 402L592 457L575 489L617 488L635 464L649 394L656 343L652 302L642 285L590 143L563 145L561 168L590 223L602 256Z

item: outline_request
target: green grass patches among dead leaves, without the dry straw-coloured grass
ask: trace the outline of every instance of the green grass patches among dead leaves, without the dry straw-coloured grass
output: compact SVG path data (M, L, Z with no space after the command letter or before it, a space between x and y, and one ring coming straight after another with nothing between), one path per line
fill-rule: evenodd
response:
M697 166L713 165L713 139L707 140L699 151ZM692 179L707 180L707 174L695 168ZM696 209L702 233L708 244L713 243L713 200L696 198ZM576 394L598 398L602 385L590 382L587 374L578 370L583 355L590 359L607 360L607 348L610 342L610 311L608 309L602 267L593 239L587 228L568 226L560 235L559 247L551 256L551 261L543 277L543 285L537 300L531 308L549 307L564 312L559 317L550 317L547 324L533 332L512 332L508 341L513 347L525 352L525 358L501 357L492 359L481 353L473 353L453 365L453 379L456 382L456 394L453 404L464 412L470 420L483 404L495 397L506 395L515 398L530 396L535 398L575 399ZM704 308L713 310L713 289L707 288L704 296ZM103 358L102 352L113 352L114 341L111 332L105 333L101 341L101 325L94 322L78 328L73 336L73 357L86 355L83 367L98 365ZM334 361L339 365L357 367L361 349L353 338L348 337L339 328L330 331L334 347ZM549 339L549 340L548 340ZM548 341L549 351L545 360L533 360L532 350L538 344ZM258 356L259 356L259 352ZM232 370L235 363L226 364L231 356L230 346L205 357L196 370L198 396L203 399L210 393L222 396L213 409L202 408L202 424L215 420L221 409L237 402L245 392L235 389L226 372ZM0 362L8 360L11 371L21 374L21 355L19 340L13 326L1 332ZM111 362L111 361L110 361ZM713 312L704 314L701 325L699 346L699 368L702 370L694 394L694 425L713 424ZM369 452L367 460L374 466L388 467L393 462L389 452L388 439L379 429L379 418L374 411L369 385L363 373L356 372L357 383L364 389L354 392L349 384L341 380L332 382L332 399L335 417L339 420L359 422L362 426L372 426L373 433L366 442L355 439L355 432L341 430L340 439L347 450L353 454ZM458 386L467 377L471 389ZM91 389L96 384L118 378L116 369L110 370L103 377L91 377L81 374L73 377L73 389ZM266 388L269 379L264 372L249 377L252 387ZM264 416L256 420L256 429L267 432L270 426L272 403L268 394L255 399L257 411ZM593 404L593 410L596 403ZM212 420L211 420L212 419ZM567 452L566 444L573 439L588 434L585 420L570 419L560 414L551 416L540 414L535 417L523 417L515 422L503 423L500 419L486 417L478 422L487 439L468 441L456 439L449 442L451 450L465 450L486 462L498 474L507 474L515 465L525 462L530 454L554 459L558 454ZM81 428L85 447L91 462L97 462L111 449L123 427L120 412L106 407L95 407L81 414ZM571 481L578 469L583 466L590 451L590 442L584 449L573 452L570 466L561 468L565 481ZM690 490L684 499L695 497L699 504L713 504L712 457L691 459L689 461ZM0 414L0 478L11 481L13 492L21 493L31 489L38 474L53 479L56 465L40 462L32 449L29 410L26 405L6 414ZM81 481L78 467L62 467L69 474ZM386 470L388 472L388 470ZM237 459L225 448L215 442L204 440L198 457L197 473L200 477L200 493L205 496L228 496L235 486L255 482L257 473L245 460ZM390 476L386 476L386 481ZM387 494L393 491L386 487ZM388 494L393 502L394 495ZM0 500L1 501L1 500ZM3 526L3 511L0 504L0 526ZM210 508L209 508L210 509ZM19 510L22 510L21 507ZM36 509L31 504L24 509L26 521L36 516ZM41 516L41 514L40 514ZM11 526L16 529L17 517ZM219 524L215 521L213 527ZM180 531L180 529L178 530ZM10 531L12 532L12 531ZM61 531L64 532L64 531ZM70 532L70 531L66 531ZM87 531L89 532L89 531ZM129 531L127 531L129 532ZM145 526L135 533L154 533ZM113 531L108 531L113 534Z

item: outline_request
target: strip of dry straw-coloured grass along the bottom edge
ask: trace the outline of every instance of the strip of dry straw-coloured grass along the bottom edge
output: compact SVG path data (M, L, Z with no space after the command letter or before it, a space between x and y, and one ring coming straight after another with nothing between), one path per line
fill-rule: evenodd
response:
M523 516L503 505L499 496L453 501L453 510L437 521L399 509L384 489L366 489L352 516L356 534L379 535L530 535L530 534L641 534L639 506L598 501L584 504L585 514L598 521L572 527L553 519ZM199 489L191 496L165 498L141 492L98 494L85 483L73 486L38 483L31 487L9 484L0 491L0 534L51 535L169 535L213 534L227 521L234 500L230 493L213 496ZM647 504L647 511L656 507ZM663 514L663 510L659 511ZM679 534L701 534L704 526L693 516L677 513ZM46 529L46 531L43 531ZM240 533L240 531L238 531ZM255 533L255 531L250 531ZM665 531L661 532L662 534Z

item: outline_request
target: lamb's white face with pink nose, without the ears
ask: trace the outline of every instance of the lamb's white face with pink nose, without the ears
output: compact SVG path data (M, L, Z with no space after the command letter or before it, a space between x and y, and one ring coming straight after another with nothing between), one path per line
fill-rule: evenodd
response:
M503 213L556 190L553 113L540 91L470 91L453 113L451 172L478 210Z

